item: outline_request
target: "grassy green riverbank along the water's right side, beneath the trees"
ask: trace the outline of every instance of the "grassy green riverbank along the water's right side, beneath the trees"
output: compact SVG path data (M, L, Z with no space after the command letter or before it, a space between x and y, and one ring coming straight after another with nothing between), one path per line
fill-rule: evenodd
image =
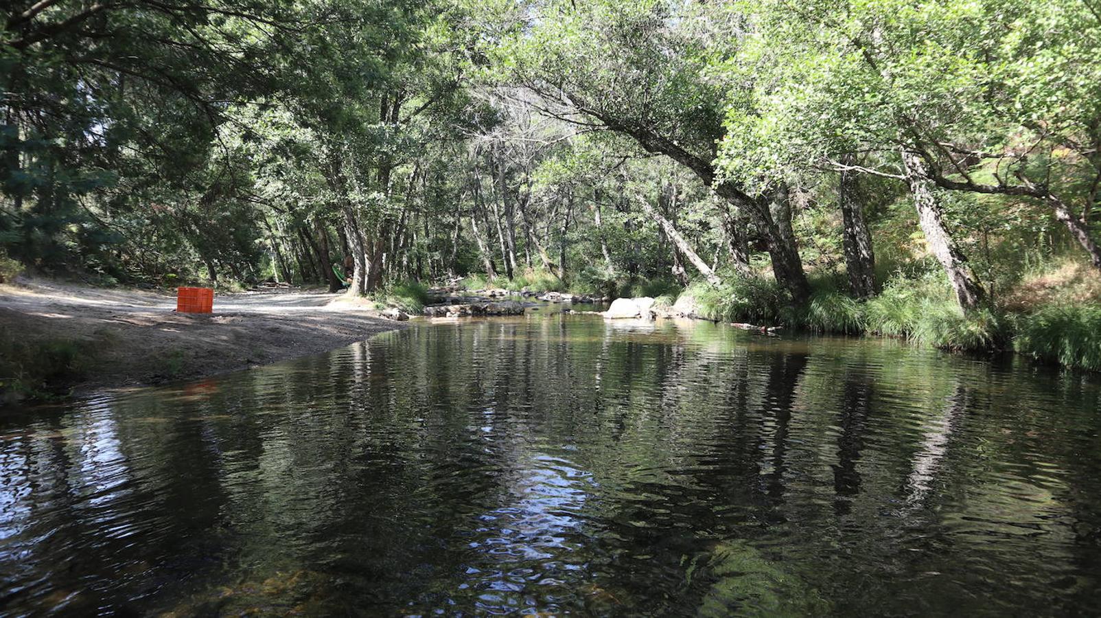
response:
M728 275L719 286L697 281L682 288L669 279L601 279L582 272L568 284L545 271L487 280L472 275L467 290L499 288L536 292L563 291L608 297L652 296L673 305L690 296L700 317L762 326L846 335L886 336L952 351L1016 351L1046 362L1101 371L1101 273L1075 259L1057 259L1022 268L1001 282L1001 292L984 308L964 314L944 274L930 261L895 264L881 273L880 293L860 301L847 292L844 273L810 277L810 301L795 306L771 277Z

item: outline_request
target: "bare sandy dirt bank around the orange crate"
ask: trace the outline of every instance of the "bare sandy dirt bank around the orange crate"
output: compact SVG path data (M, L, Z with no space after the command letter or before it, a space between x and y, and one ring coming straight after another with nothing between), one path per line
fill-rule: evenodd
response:
M0 285L0 338L78 341L89 361L70 384L89 391L190 380L317 354L406 323L339 294L216 294L212 314L177 314L166 292L31 281Z

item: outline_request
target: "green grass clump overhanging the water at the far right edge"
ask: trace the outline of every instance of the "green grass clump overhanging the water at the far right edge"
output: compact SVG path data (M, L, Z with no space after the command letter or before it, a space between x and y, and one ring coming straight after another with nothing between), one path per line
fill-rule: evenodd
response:
M1055 304L1014 319L1013 349L1066 367L1101 371L1101 306Z

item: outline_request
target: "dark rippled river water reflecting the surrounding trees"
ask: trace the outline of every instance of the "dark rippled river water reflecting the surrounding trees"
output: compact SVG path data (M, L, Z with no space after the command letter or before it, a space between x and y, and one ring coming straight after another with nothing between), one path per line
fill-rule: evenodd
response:
M0 614L1101 612L1095 378L530 316L0 419Z

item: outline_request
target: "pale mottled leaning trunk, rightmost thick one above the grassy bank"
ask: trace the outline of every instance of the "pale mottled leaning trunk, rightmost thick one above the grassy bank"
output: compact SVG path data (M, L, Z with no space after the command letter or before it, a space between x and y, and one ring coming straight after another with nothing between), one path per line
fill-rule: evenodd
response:
M963 251L945 227L944 212L936 194L933 193L933 181L929 180L925 161L920 155L903 150L902 163L906 184L914 198L914 207L917 208L922 231L933 254L948 274L952 290L956 291L956 301L963 311L978 307L985 301L986 292L967 263Z

